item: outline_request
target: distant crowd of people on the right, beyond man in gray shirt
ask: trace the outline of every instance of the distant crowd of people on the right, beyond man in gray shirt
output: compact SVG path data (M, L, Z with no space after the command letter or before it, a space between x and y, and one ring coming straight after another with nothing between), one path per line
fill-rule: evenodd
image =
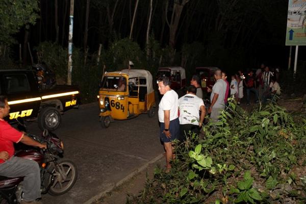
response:
M256 73L251 70L244 77L239 71L232 75L231 96L235 97L237 104L240 105L241 99L244 97L244 88L246 89L246 105L250 104L250 94L254 93L254 102L260 100L264 103L268 98L281 94L281 87L278 84L279 69L276 68L274 73L270 71L268 66L264 64L257 69Z

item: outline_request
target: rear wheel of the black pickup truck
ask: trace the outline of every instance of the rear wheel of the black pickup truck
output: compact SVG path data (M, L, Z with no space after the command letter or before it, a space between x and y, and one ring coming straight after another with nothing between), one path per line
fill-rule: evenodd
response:
M47 129L48 131L54 131L60 126L62 118L56 108L46 107L40 111L37 120L40 130Z

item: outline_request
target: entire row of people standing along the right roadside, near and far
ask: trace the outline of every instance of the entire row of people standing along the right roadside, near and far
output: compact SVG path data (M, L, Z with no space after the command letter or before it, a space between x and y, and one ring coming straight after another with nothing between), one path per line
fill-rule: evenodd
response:
M243 98L243 89L246 88L247 105L250 104L250 93L255 95L255 102L260 99L266 101L274 94L279 95L281 89L276 80L277 73L273 74L268 66L262 64L261 68L254 74L249 71L245 78L239 71L232 75L231 84L227 81L227 75L224 71L216 69L214 72L215 84L211 92L210 106L206 111L203 103L203 92L200 86L201 79L198 75L193 75L191 86L187 89L187 94L179 98L177 93L170 88L170 80L162 77L158 80L158 89L163 95L159 104L160 121L160 139L164 144L166 151L167 171L171 168L170 161L174 159L172 141L178 139L183 141L190 133L198 133L203 124L207 112L210 114L210 120L218 121L221 112L227 106L227 98L231 97L237 100Z

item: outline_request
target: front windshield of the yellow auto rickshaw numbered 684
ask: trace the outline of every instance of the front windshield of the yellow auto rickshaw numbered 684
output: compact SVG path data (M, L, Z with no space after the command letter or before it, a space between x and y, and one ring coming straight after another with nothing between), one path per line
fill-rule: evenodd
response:
M126 79L122 76L105 76L103 77L99 88L111 91L125 91Z

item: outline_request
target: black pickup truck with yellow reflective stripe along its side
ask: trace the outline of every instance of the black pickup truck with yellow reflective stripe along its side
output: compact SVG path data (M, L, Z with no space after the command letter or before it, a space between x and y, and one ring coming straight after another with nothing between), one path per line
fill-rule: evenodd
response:
M61 114L79 105L80 90L76 86L56 86L40 90L31 70L0 70L0 95L8 96L9 122L17 118L37 119L39 129L56 130Z

